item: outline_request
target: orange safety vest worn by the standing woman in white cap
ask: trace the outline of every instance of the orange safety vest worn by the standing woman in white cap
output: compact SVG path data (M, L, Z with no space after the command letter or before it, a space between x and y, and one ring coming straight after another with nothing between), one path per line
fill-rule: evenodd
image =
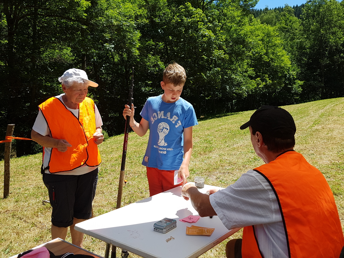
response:
M39 105L39 109L48 124L51 137L64 139L72 145L66 152L52 148L49 165L44 170L49 169L50 173L58 173L71 171L85 163L87 166L98 166L101 163L98 146L93 141L96 117L92 99L86 97L79 104L79 118L76 118L62 101L55 97L43 102Z

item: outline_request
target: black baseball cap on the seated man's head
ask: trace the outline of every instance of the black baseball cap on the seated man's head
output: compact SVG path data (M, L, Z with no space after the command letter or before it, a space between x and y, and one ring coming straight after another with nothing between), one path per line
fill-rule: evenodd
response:
M280 107L261 106L251 116L250 120L240 129L251 126L263 136L269 135L280 139L290 139L295 135L296 126L290 113Z

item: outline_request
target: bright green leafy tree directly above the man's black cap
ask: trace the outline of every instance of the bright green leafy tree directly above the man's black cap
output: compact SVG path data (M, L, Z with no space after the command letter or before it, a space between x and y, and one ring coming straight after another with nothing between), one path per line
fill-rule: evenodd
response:
M254 109L264 104L277 106L297 102L300 82L276 27L253 20L247 36L250 45L247 59L252 69L253 87L247 97L250 101L245 99L244 103Z

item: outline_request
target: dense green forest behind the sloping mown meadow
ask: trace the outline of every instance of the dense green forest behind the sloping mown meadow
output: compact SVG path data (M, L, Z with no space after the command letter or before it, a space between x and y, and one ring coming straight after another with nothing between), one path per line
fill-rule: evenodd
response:
M136 116L162 93L164 67L187 74L199 118L344 96L344 0L255 9L258 0L1 0L0 130L30 138L58 77L87 72L109 136L123 133L131 68ZM17 157L41 151L16 141Z

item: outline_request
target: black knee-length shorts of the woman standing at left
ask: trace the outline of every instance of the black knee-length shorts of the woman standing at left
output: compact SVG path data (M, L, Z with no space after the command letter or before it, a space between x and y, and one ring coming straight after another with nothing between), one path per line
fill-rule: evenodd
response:
M73 225L73 218L89 219L96 194L98 168L83 175L43 174L53 208L51 223L56 227Z

